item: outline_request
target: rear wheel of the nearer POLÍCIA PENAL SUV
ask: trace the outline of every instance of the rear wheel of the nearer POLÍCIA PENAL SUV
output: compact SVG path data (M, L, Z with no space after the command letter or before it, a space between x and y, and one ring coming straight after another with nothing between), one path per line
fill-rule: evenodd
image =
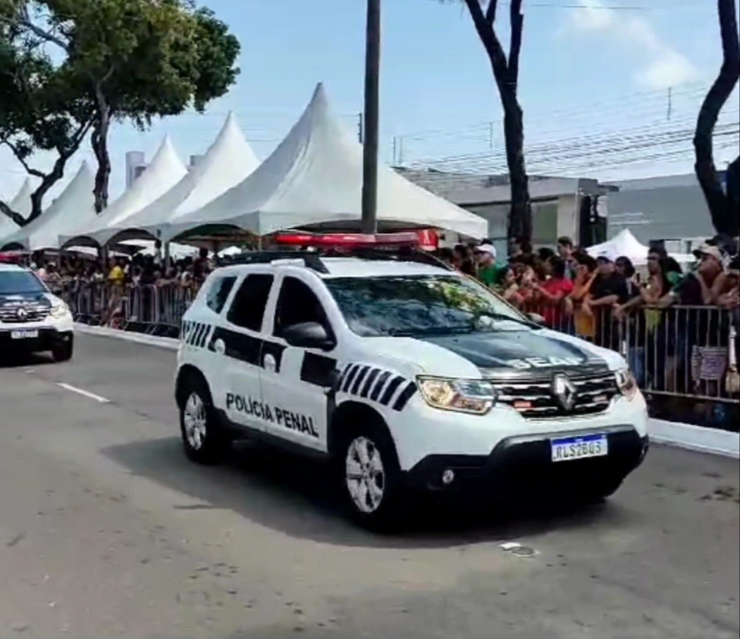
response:
M196 464L212 465L223 462L231 449L232 440L218 425L206 382L188 376L182 382L180 402L180 432L185 454Z

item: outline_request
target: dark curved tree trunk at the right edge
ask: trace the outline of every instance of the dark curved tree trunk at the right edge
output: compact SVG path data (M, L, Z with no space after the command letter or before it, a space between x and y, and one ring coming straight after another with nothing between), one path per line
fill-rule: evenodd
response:
M719 114L730 99L740 79L740 38L735 0L718 0L719 27L723 61L719 75L709 89L699 119L696 121L694 151L696 178L702 186L704 198L717 234L735 237L739 228L739 211L728 189L722 189L714 161L713 133ZM737 161L737 160L736 160Z

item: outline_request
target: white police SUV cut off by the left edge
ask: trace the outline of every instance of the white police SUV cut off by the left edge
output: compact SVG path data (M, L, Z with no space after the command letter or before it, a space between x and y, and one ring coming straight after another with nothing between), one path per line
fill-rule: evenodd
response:
M68 362L74 351L70 308L28 268L0 263L0 358L51 351Z

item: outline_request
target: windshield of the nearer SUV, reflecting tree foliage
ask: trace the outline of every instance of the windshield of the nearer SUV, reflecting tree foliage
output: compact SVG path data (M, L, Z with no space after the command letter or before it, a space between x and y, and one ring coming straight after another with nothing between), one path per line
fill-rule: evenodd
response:
M338 277L325 280L351 331L387 337L491 331L497 320L530 325L466 277Z

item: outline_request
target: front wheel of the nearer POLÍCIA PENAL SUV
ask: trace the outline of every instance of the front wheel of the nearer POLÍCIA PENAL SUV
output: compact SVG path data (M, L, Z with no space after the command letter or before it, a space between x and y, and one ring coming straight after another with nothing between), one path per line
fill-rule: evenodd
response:
M396 447L382 423L350 427L340 440L334 476L343 505L363 528L391 533L403 524L403 481Z

